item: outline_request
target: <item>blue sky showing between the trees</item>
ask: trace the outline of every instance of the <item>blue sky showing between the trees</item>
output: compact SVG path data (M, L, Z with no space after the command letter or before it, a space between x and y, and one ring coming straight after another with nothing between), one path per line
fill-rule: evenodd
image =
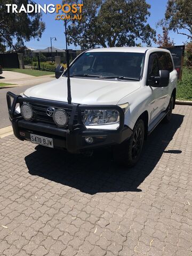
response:
M52 0L36 0L37 4L54 4ZM57 4L62 2L61 0L57 1ZM164 18L164 13L166 10L166 3L167 0L147 0L148 4L151 5L150 17L148 18L147 22L149 25L156 30L156 34L162 34L161 28L156 28L156 23ZM42 38L37 41L37 39L32 39L29 42L26 42L27 47L31 47L33 49L45 49L46 47L50 47L50 37L56 37L57 41L52 40L52 45L59 49L65 49L65 34L64 34L64 22L61 20L55 20L55 13L43 13L42 17L43 21L45 22L46 29L42 35ZM183 35L178 35L173 31L170 31L169 36L171 39L174 40L175 45L182 45L183 42L187 41L187 37ZM144 45L143 45L144 46ZM154 43L152 46L156 46ZM74 45L70 45L69 49L79 49L79 47L75 47Z

